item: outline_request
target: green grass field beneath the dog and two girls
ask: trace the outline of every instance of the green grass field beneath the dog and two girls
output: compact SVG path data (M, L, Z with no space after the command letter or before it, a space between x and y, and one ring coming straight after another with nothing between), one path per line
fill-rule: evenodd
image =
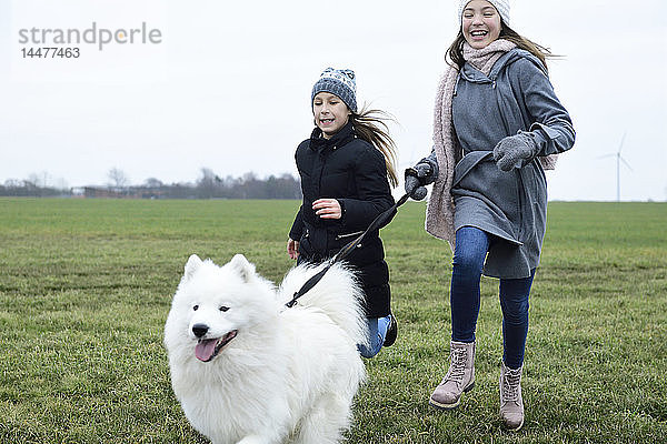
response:
M206 443L162 329L191 253L279 282L296 201L0 199L0 442ZM497 281L482 280L477 384L447 370L451 253L409 203L382 230L399 340L366 361L350 443L667 442L667 204L551 203L530 299L526 424L498 416Z

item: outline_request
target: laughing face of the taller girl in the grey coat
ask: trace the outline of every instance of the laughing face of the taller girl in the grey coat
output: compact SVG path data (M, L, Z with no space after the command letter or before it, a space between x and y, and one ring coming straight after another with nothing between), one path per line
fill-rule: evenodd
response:
M461 31L468 44L475 49L486 48L500 36L500 14L486 0L472 0L464 9Z

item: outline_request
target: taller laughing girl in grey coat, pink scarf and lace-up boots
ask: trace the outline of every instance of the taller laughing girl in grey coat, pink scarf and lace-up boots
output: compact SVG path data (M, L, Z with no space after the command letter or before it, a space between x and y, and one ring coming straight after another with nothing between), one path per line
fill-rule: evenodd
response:
M459 17L436 99L434 151L406 171L415 199L435 181L426 229L454 250L450 366L429 402L454 408L475 385L479 281L499 278L500 415L518 430L528 295L546 229L544 170L573 147L575 131L549 82L549 52L509 28L508 0L461 0Z

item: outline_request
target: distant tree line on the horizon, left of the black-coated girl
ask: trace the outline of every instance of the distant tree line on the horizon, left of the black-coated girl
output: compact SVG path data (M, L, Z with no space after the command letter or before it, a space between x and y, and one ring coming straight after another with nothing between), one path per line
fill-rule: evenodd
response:
M205 168L201 169L201 176L195 183L166 184L156 178L150 178L141 185L129 185L127 175L118 169L112 169L109 171L109 179L110 182L103 186L73 189L49 186L31 180L8 180L0 185L0 195L116 199L301 199L300 182L288 173L259 179L250 172L241 178L228 175L221 179L212 170Z

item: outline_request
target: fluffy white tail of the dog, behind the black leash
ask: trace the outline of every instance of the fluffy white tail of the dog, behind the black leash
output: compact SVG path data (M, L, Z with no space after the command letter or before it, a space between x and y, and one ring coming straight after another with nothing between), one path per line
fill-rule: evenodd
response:
M301 286L327 264L299 265L291 269L278 297L285 304ZM364 313L364 291L355 274L340 263L334 264L310 291L299 297L296 306L313 306L325 312L357 344L368 345L368 324ZM287 309L290 310L290 309Z

